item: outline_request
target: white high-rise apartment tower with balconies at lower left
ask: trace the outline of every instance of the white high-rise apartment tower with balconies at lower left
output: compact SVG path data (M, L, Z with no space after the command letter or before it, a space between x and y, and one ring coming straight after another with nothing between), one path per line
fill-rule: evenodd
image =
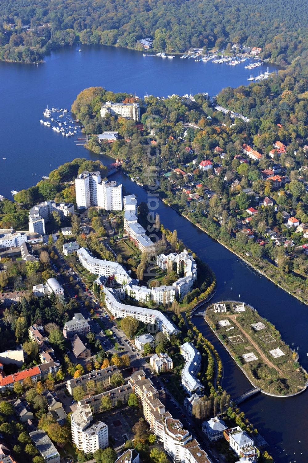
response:
M78 405L70 416L72 442L78 450L94 453L95 450L108 447L108 427L102 421L92 423L89 405Z

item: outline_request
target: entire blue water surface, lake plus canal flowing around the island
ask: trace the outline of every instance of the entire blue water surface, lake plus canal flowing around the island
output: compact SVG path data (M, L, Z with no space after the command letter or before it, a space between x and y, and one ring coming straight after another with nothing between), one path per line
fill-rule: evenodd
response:
M10 197L11 189L28 188L51 169L77 156L100 158L106 165L113 162L107 156L76 147L73 138L62 137L40 125L47 104L69 108L82 89L97 85L115 92L136 92L139 96L182 95L190 90L193 94L214 95L227 85L245 84L245 64L233 67L178 57L144 58L139 52L102 46L82 46L81 53L75 48L60 49L38 66L0 63L0 194ZM137 194L139 202L147 200L146 191L126 176L118 173L113 178L123 184L127 193ZM214 270L214 300L241 299L250 303L277 326L289 345L298 347L300 363L308 369L308 307L258 275L162 202L157 212L163 225L176 229L185 245ZM223 387L233 398L249 390L250 383L205 322L201 318L194 322L223 360ZM240 406L270 444L276 463L307 462L307 398L307 392L289 399L259 394Z

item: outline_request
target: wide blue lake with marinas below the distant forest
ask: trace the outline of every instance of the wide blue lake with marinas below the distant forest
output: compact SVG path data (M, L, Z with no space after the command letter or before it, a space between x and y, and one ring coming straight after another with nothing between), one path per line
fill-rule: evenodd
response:
M0 62L0 194L11 197L37 183L42 175L77 156L91 156L75 148L74 138L39 124L44 108L68 108L79 92L102 86L114 92L169 94L207 92L247 83L247 63L237 66L195 63L194 60L144 57L141 52L107 46L65 47L46 57L44 64ZM255 75L266 70L255 68ZM275 70L273 66L269 70ZM3 157L6 157L4 160Z

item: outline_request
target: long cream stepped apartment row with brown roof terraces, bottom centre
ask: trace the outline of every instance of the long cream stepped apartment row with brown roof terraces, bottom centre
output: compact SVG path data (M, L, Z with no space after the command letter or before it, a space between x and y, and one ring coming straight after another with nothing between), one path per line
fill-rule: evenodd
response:
M157 389L142 370L133 373L129 383L141 400L145 420L149 423L151 432L163 443L165 452L174 462L211 463L199 443L192 438L189 431L183 429L181 421L174 419L165 410L159 400Z

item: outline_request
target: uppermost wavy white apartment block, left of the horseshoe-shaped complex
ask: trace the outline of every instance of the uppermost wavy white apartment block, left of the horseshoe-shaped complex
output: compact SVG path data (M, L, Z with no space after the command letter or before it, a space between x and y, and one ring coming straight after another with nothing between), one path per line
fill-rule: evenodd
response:
M117 262L96 259L87 248L77 250L77 256L82 266L94 275L107 276L124 285L131 281L126 270Z

